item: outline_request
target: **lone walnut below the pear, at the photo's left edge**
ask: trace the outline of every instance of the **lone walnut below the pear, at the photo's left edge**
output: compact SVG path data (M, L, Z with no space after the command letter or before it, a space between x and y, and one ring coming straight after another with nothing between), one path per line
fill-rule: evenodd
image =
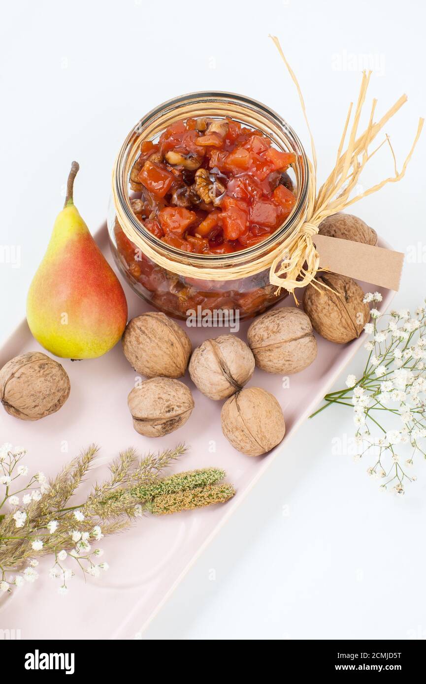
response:
M1 403L23 421L38 421L58 411L70 389L64 368L42 352L15 356L0 370Z

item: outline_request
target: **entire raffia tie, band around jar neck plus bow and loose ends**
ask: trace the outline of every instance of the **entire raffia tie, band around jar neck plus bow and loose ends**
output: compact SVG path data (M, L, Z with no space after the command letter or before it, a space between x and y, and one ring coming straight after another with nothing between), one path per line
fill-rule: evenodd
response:
M366 130L363 133L358 133L362 110L366 101L368 83L371 77L371 72L363 73L358 101L355 107L353 107L353 104L351 103L347 118L344 122L343 133L336 155L336 165L325 183L323 183L317 192L318 164L316 150L301 88L295 73L292 71L290 64L288 64L286 57L284 56L278 38L276 38L276 36L271 36L271 38L297 88L301 109L310 134L312 149L312 161L308 159L309 181L307 211L304 216L301 216L299 222L295 222L291 230L288 231L285 239L281 241L279 245L275 246L268 254L262 254L261 257L253 259L249 263L238 263L238 265L228 264L221 267L202 267L201 265L196 266L189 263L183 263L183 261L173 261L166 257L163 252L155 250L142 235L136 233L134 229L127 226L127 218L116 193L115 168L113 172L112 194L114 196L117 220L123 228L123 231L127 237L133 241L149 259L151 259L151 261L158 264L160 267L178 274L179 276L197 278L199 280L217 281L238 280L239 278L253 276L269 269L270 281L272 285L277 287L277 293L279 293L280 289L284 288L294 294L294 290L297 287L305 287L310 282L315 285L315 275L319 270L319 257L314 247L313 238L316 233L318 233L318 226L321 221L337 211L347 209L347 207L350 207L354 202L358 202L358 200L363 197L371 195L373 192L377 192L377 190L384 187L386 183L396 183L397 181L400 181L405 174L408 162L412 157L418 137L421 134L423 119L421 118L418 122L414 143L403 163L401 171L397 170L394 152L387 135L385 135L384 140L370 152L369 146L380 131L383 130L390 118L392 118L407 101L407 96L401 96L378 122L374 122L377 101L373 100ZM366 164L384 144L390 146L394 161L394 175L366 189L362 194L351 198L351 193L358 184L360 175Z

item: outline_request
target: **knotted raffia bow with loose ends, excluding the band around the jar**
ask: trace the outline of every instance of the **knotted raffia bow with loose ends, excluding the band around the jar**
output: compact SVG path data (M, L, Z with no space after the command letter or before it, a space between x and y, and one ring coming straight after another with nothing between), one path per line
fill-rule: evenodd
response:
M382 116L377 123L373 121L377 100L373 99L368 126L364 133L358 135L358 127L360 124L362 108L366 100L366 92L371 77L371 72L364 72L362 75L360 94L358 95L358 101L355 106L355 111L353 112L353 117L353 103L349 105L349 111L344 123L340 145L338 147L336 166L331 171L331 174L329 174L325 183L320 187L318 193L316 193L316 150L308 122L308 116L306 114L301 88L294 72L292 71L292 68L286 60L278 38L276 36L271 36L271 38L275 43L275 46L277 47L284 64L286 64L290 76L295 82L297 92L299 93L303 116L310 133L312 159L314 160L313 163L308 161L310 170L310 183L308 187L308 210L305 220L301 222L299 226L297 226L295 231L296 234L289 238L288 244L283 244L281 246L281 254L273 259L270 269L271 283L273 285L277 285L279 289L284 287L286 290L293 292L296 287L305 287L312 282L319 270L319 257L314 246L313 237L316 235L316 233L318 233L318 226L321 221L331 214L342 211L343 209L347 209L347 207L350 207L354 202L358 202L358 200L362 199L363 197L371 195L373 192L377 192L377 190L381 189L381 187L384 187L386 183L396 183L397 181L400 181L405 174L408 162L410 161L412 153L414 152L418 137L420 136L421 130L423 128L424 120L421 118L418 122L416 137L414 138L410 153L408 153L408 156L405 158L400 172L397 170L395 155L387 135L384 141L379 144L379 146L377 146L372 152L369 152L369 147L373 140L375 140L375 137L377 137L378 133L383 129L388 120L394 116L394 114L396 114L396 112L407 101L407 96L401 96L399 100L394 103L393 107L390 107L386 114ZM344 144L346 140L347 148L344 150ZM384 181L373 185L351 199L351 193L358 184L360 175L366 164L375 155L377 150L379 150L383 144L386 144L386 142L390 146L394 160L394 176L390 176Z

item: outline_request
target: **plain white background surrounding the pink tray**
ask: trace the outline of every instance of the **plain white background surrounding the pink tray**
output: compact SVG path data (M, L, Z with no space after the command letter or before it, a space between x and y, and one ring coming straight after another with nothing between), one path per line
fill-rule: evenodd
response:
M95 231L118 148L158 103L195 90L240 92L277 110L308 147L295 88L269 33L279 36L301 83L321 179L358 94L363 55L375 68L379 114L409 95L386 129L402 160L426 113L424 8L421 0L3 5L0 244L21 250L21 266L0 263L1 338L25 313L72 159L81 167L77 207ZM426 134L405 179L354 208L403 252L418 242L426 252L425 149ZM392 175L386 148L371 166L365 185ZM397 306L421 304L425 269L421 259L405 263ZM358 358L350 370L361 365ZM353 434L346 411L329 409L303 426L146 637L426 638L426 464L418 463L418 482L403 499L381 495L368 464L333 453L334 438Z

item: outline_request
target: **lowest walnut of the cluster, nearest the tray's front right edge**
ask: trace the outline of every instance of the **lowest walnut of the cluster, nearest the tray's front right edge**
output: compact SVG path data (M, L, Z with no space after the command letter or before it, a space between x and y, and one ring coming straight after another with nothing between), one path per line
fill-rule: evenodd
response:
M221 412L223 434L247 456L262 456L279 444L286 432L277 399L260 387L247 387L229 397Z

